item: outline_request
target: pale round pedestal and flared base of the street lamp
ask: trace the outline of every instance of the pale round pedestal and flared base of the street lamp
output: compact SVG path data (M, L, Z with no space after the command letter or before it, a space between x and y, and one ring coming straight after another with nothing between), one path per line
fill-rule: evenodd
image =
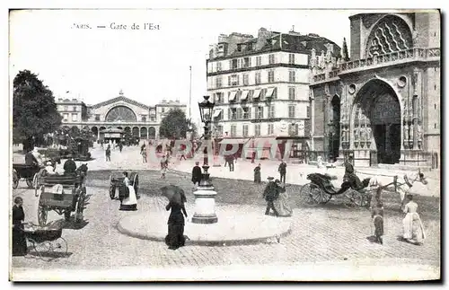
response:
M192 216L193 224L216 224L216 190L209 180L207 170L209 166L203 166L203 179L198 189L193 193L195 196L195 214Z

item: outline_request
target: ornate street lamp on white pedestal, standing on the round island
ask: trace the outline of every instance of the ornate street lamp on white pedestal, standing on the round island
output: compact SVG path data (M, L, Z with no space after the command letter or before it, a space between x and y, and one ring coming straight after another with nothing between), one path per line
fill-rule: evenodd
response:
M208 157L207 157L207 141L209 140L209 124L212 119L212 110L215 103L209 101L209 96L204 97L204 101L198 102L201 121L204 126L204 141L205 157L202 174L202 179L199 183L198 189L193 193L195 195L195 214L192 216L192 223L194 224L215 224L218 222L216 216L216 190L209 180Z

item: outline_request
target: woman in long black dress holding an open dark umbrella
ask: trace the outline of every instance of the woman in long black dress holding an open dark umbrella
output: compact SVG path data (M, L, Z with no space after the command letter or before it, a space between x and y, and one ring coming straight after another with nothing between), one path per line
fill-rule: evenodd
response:
M184 238L184 216L187 217L184 203L187 201L184 191L175 192L170 199L170 203L165 207L166 210L172 209L168 220L168 234L165 237L165 243L169 249L176 250L183 247L186 240ZM182 215L184 214L184 215Z

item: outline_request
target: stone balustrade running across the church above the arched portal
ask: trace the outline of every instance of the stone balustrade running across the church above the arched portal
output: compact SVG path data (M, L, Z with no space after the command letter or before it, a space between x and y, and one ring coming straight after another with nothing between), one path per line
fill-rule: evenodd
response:
M409 48L406 50L395 51L380 56L368 57L365 59L357 59L342 63L338 68L313 75L313 83L321 83L337 78L339 75L365 70L377 66L392 66L396 63L405 63L409 61L429 61L438 60L441 56L440 48Z

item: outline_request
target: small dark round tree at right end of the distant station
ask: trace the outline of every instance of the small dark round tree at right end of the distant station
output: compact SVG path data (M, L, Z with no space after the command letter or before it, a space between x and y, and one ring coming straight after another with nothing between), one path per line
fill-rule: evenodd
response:
M166 138L185 138L187 129L186 114L180 109L173 109L163 118L159 135Z

